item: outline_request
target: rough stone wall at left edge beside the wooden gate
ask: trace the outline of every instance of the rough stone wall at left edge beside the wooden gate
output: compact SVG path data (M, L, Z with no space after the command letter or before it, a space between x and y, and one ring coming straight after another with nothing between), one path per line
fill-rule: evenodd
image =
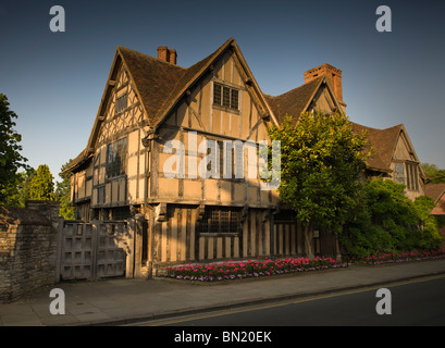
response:
M0 207L0 302L54 284L58 203ZM51 219L50 219L51 217Z

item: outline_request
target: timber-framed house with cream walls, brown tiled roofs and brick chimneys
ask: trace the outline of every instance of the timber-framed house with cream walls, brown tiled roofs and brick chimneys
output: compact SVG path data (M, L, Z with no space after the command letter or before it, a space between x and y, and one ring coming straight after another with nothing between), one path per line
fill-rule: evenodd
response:
M234 152L232 164L243 165L240 172L232 165L228 176L194 175L193 164L206 157L199 151L202 141L219 145L215 152L231 141L257 149L261 141L270 144L268 127L286 113L345 112L342 71L318 66L305 73L305 85L272 97L261 91L233 38L188 69L176 59L166 47L158 48L158 58L118 47L87 146L65 170L72 173L77 219L138 214L145 221L144 262L157 265L302 254L302 227L276 190L261 189L261 178L247 175L257 165L248 151L240 158ZM386 152L379 139L372 144L378 156ZM184 145L183 162L171 165L173 140ZM386 166L370 162L370 170L393 173L394 153L395 148ZM412 146L407 156L398 160L419 167L411 172L419 185L411 183L420 190L422 172ZM316 253L337 252L329 234L316 231L312 240Z

